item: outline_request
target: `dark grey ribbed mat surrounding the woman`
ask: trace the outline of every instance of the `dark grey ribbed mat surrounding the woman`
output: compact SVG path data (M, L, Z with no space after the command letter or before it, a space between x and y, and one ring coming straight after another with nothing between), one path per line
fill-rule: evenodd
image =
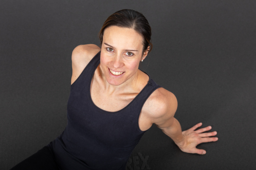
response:
M175 94L182 130L202 122L219 138L197 146L205 155L184 153L153 124L127 170L256 169L254 0L1 0L0 169L61 134L72 51L99 45L103 22L121 9L149 20L153 51L140 69Z

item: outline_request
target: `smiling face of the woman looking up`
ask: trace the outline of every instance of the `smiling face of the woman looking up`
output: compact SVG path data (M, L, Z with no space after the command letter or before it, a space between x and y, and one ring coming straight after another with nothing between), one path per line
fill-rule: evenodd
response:
M111 26L105 29L101 47L100 67L111 85L135 79L142 59L142 36L134 29ZM146 57L147 52L143 55ZM113 75L111 71L120 72ZM121 72L123 72L121 74Z

